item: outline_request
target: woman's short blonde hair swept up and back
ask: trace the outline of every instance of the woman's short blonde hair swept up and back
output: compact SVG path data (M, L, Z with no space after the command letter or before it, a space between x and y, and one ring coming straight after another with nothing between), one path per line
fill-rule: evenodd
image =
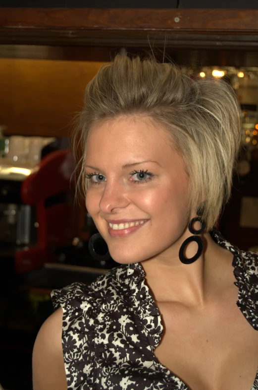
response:
M193 79L171 63L117 55L87 85L74 140L81 131L85 147L93 126L124 115L147 115L171 134L189 174L189 208L201 212L210 230L230 197L241 141L233 89L222 80ZM85 152L78 181L85 195L84 162Z

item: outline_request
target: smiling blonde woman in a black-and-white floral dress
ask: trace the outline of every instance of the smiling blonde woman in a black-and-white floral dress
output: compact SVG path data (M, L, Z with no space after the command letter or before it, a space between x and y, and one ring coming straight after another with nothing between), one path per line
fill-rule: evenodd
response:
M34 390L258 389L258 257L214 228L240 145L230 86L119 55L79 129L86 207L121 265L52 292Z

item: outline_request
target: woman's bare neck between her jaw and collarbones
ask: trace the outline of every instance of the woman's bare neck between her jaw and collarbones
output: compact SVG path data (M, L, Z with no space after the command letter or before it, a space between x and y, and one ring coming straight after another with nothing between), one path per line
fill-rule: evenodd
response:
M183 264L178 257L183 241L175 243L165 253L142 262L146 281L156 302L177 302L187 307L203 307L210 289L219 288L225 258L233 255L217 245L209 235L201 235L204 249L198 260ZM197 252L197 244L191 243L186 250L190 258ZM220 281L219 281L220 280Z

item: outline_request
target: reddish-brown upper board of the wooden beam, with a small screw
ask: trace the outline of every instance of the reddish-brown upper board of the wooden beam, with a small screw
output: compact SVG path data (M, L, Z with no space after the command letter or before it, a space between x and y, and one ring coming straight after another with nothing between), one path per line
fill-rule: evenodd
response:
M0 8L0 28L258 32L258 9Z

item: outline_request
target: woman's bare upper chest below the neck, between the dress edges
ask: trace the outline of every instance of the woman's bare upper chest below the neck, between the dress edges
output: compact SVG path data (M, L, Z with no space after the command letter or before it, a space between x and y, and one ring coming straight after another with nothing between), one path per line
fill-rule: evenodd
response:
M252 389L258 331L235 301L202 313L176 304L157 306L164 331L155 356L189 390Z

